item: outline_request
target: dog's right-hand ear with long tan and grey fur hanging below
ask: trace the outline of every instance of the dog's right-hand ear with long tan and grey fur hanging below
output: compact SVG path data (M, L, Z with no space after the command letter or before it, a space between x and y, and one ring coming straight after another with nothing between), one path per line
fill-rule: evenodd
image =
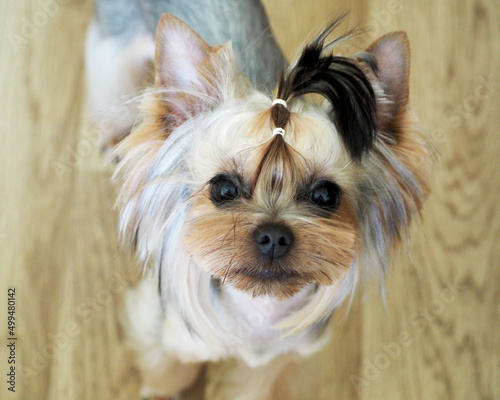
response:
M358 177L360 265L365 272L378 270L383 287L391 249L407 235L411 220L420 214L430 192L434 148L409 104L406 34L388 33L356 58L377 94L378 130L373 151L363 159Z

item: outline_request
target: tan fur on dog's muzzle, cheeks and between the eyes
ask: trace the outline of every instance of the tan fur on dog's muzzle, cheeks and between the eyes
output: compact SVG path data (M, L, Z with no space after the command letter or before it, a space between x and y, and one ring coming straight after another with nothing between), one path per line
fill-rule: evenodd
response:
M225 284L254 296L282 299L307 284L330 285L340 279L353 261L357 242L348 201L343 200L334 215L314 215L297 199L311 171L279 135L240 162L252 177L246 182L251 199L240 199L238 205L224 209L212 204L208 186L194 196L185 232L188 252L198 264ZM285 224L294 232L294 248L284 259L269 262L254 244L254 230L267 222ZM285 271L286 277L265 281L257 278L256 272L262 269Z

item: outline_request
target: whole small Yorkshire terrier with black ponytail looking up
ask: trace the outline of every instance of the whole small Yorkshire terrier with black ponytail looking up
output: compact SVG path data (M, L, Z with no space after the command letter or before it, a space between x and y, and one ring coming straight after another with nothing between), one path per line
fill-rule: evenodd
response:
M119 229L149 267L126 299L142 396L179 396L232 358L217 398L269 398L358 284L383 280L419 214L432 151L409 105L406 34L332 55L350 36L328 39L339 21L286 66L258 0L96 3L91 109L154 58L140 114L103 141L126 136Z

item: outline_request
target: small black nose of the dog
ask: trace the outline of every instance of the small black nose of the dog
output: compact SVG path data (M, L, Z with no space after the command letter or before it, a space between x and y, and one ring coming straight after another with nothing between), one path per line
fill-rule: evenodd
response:
M259 251L269 258L283 257L293 245L292 231L281 224L259 226L253 234Z

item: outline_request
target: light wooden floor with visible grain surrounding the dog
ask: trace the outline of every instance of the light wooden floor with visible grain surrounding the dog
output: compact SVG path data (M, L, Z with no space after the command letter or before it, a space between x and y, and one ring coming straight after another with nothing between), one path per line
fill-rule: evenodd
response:
M0 2L0 398L135 399L118 322L133 263L117 246L112 168L83 109L92 4L54 1L50 16L48 0ZM265 3L288 56L346 9L350 26L371 28L366 43L406 30L412 102L441 153L424 223L388 277L387 311L369 286L337 313L328 348L287 371L277 397L500 399L500 3Z

